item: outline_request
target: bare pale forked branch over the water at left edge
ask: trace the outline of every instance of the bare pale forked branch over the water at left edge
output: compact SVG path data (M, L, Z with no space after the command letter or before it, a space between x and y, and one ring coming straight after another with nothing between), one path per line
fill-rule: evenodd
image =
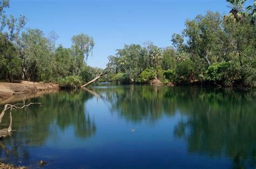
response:
M2 122L2 118L4 117L4 114L7 110L10 109L10 125L9 125L9 128L5 128L5 129L0 129L0 138L4 138L6 136L8 136L10 134L10 132L12 131L12 116L11 116L11 111L12 109L23 109L24 107L28 107L29 105L31 104L39 104L42 106L42 103L29 103L29 104L22 104L22 103L17 103L17 104L5 104L4 105L4 109L3 111L1 112L1 115L0 115L0 123ZM22 107L18 107L18 105L23 105Z

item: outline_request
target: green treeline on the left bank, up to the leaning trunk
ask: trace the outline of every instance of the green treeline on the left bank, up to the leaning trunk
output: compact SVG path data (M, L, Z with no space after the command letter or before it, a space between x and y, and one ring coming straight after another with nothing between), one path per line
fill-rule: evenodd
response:
M59 82L63 86L80 86L99 71L87 66L92 54L93 38L86 34L72 37L72 46L56 47L57 34L47 36L38 29L26 29L26 18L7 16L9 1L0 1L0 80Z

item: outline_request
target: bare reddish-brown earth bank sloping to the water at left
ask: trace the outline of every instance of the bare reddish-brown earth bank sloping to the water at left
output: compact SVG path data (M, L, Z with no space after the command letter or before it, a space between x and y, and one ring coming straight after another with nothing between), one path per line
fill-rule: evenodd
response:
M36 94L39 91L58 90L59 86L54 83L38 83L22 81L21 83L0 82L0 102L19 95Z

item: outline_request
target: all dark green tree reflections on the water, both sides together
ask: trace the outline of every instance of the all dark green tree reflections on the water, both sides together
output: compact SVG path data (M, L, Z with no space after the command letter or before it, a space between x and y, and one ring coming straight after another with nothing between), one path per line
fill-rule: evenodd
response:
M70 137L80 139L96 135L97 119L86 108L91 98L103 100L101 104L110 105L109 112L134 124L146 121L157 126L179 115L173 137L186 143L187 154L225 156L233 168L256 166L255 90L152 86L92 86L26 100L44 107L32 105L15 112L17 131L0 142L1 161L29 164L33 154L28 146L43 146L66 130L72 129ZM8 123L5 116L3 124Z

